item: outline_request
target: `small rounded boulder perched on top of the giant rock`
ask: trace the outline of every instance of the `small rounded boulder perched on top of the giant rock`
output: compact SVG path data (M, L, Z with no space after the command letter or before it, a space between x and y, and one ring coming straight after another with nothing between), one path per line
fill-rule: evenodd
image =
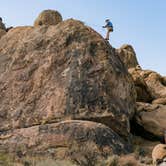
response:
M44 10L34 22L34 26L56 25L62 22L62 16L58 11Z

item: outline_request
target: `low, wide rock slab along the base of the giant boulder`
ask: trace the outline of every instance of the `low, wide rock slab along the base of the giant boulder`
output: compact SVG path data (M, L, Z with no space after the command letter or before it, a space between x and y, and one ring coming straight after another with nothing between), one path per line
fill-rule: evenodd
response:
M20 156L52 154L65 158L70 157L72 149L82 146L100 155L122 154L129 150L128 145L109 127L89 121L64 121L0 132L1 152Z

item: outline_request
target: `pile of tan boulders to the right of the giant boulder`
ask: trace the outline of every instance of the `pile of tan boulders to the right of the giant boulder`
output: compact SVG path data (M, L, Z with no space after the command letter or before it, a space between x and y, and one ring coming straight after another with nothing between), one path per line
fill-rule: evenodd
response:
M134 119L145 131L161 139L166 130L166 80L154 71L137 68L139 64L136 63L134 51L132 52L130 62L127 52L123 53L121 59L128 67L137 91L137 111Z

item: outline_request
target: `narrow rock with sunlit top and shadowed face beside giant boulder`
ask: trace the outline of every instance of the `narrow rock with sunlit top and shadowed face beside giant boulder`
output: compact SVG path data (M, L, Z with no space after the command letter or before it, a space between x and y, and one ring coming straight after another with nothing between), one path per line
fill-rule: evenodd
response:
M136 92L137 92L137 101L138 102L151 102L153 100L151 92L144 80L144 78L140 75L141 69L130 68L129 73L131 74Z

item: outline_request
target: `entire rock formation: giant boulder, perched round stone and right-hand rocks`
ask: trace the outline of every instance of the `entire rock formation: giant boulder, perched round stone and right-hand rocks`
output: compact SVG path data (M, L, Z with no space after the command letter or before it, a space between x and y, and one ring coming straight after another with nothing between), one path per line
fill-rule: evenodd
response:
M79 165L93 166L132 150L130 128L162 137L166 77L143 70L132 46L114 49L81 21L62 21L52 10L42 12L34 26L4 34L0 31L0 153L79 159ZM142 165L128 154L119 159L121 166L127 158Z

